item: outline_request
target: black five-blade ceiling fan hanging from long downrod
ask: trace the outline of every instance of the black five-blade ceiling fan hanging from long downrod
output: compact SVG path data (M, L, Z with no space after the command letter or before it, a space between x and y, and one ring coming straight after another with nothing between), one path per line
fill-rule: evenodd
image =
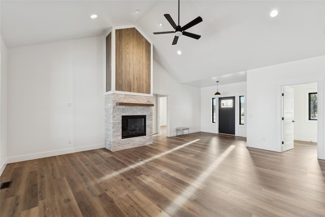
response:
M176 23L174 22L174 20L172 19L171 15L169 14L164 14L164 16L166 17L166 19L168 20L168 22L173 26L173 28L175 29L175 31L169 31L169 32L158 32L158 33L153 33L155 35L157 34L168 34L168 33L175 33L175 37L173 40L172 45L177 44L178 41L178 37L180 37L181 35L193 38L193 39L200 39L201 36L193 34L193 33L188 33L185 32L186 29L192 27L193 25L196 25L200 22L203 21L202 17L197 17L195 19L193 19L192 21L190 21L189 23L187 23L186 25L184 25L183 27L179 25L179 0L178 0L178 25L176 25Z

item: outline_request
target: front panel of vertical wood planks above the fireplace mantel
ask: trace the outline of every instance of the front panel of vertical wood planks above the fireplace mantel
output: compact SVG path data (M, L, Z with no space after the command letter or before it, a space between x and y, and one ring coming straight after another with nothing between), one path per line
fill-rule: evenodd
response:
M116 90L150 94L150 43L136 28L117 29L115 33Z

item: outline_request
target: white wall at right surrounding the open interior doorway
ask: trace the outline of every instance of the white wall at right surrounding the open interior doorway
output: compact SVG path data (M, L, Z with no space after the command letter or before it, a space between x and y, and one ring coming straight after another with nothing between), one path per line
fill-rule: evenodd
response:
M318 82L318 94L323 92L325 73L324 56L314 57L247 71L247 146L281 151L278 142L281 105L281 85ZM297 83L298 82L298 83ZM322 91L319 91L322 90ZM321 92L321 93L320 93ZM318 95L318 106L322 107L323 95ZM318 109L319 109L318 107ZM281 106L280 106L281 108ZM321 108L322 109L322 108ZM279 117L278 117L279 116ZM323 117L318 114L318 120ZM323 123L318 121L318 158L325 158L323 148ZM321 136L321 141L319 139ZM320 150L321 149L321 150Z

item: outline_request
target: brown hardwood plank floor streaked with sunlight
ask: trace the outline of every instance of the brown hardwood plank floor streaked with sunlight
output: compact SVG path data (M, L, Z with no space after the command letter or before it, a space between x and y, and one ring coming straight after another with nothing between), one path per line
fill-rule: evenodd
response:
M1 216L325 216L316 146L284 153L209 133L8 164Z

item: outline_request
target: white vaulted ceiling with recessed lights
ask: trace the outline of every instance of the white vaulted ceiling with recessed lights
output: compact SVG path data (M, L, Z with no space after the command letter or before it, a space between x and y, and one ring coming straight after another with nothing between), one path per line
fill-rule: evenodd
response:
M181 1L180 25L201 16L203 22L187 32L202 37L181 36L177 45L173 34L152 34L173 30L164 14L177 23L176 0L0 4L1 36L9 48L101 36L112 26L135 24L153 43L157 63L194 86L245 81L249 69L325 54L324 1ZM271 18L274 9L279 15Z

